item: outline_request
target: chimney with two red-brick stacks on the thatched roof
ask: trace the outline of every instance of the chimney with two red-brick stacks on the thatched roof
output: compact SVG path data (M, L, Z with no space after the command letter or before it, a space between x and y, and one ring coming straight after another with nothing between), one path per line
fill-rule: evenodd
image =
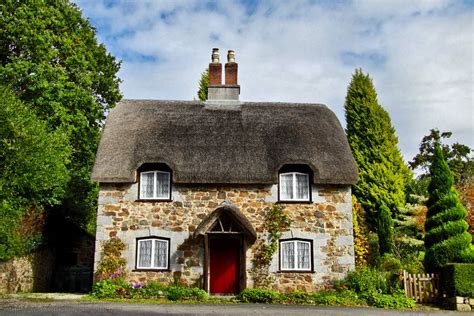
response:
M225 64L225 84L222 84L222 64L219 60L219 49L213 48L209 64L208 103L235 103L239 101L240 86L237 83L238 65L235 52L229 50Z

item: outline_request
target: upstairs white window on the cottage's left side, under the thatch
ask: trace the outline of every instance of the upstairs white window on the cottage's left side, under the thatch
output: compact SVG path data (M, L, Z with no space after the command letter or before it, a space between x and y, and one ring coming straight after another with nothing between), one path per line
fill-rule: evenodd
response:
M140 174L140 198L171 199L171 177L167 171L145 171Z

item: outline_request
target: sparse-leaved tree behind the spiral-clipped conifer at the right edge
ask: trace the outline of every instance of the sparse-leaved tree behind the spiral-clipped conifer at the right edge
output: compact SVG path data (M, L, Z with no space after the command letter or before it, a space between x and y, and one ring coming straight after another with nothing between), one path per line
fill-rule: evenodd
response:
M440 132L434 128L423 137L419 153L409 163L412 169L420 168L424 171L421 178L429 177L428 169L433 159L435 144L440 144L443 156L453 173L454 183L459 184L472 179L474 175L474 160L470 156L472 149L460 143L454 143L451 146L442 144L443 139L448 139L451 136L452 132Z

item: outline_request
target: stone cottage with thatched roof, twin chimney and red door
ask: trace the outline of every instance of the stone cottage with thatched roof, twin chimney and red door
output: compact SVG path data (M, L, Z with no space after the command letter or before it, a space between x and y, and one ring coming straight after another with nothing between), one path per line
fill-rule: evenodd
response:
M344 277L357 168L338 119L322 104L239 101L233 51L227 59L223 83L213 50L206 102L123 100L111 111L92 173L95 267L117 237L132 282L238 293L259 285L254 259L279 205L291 224L267 269L272 287L311 291Z

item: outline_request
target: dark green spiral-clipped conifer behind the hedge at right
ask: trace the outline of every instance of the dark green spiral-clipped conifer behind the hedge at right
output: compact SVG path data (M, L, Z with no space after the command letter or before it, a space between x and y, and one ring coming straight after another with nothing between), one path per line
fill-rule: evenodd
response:
M454 178L441 146L435 144L430 166L425 222L425 268L436 271L448 262L474 262L466 210L454 189Z

